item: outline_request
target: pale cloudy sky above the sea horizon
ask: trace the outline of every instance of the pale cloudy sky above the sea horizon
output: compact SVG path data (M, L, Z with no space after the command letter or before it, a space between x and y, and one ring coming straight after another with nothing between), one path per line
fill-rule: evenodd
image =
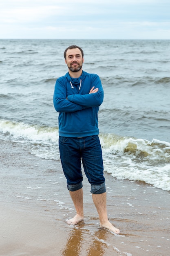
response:
M170 39L170 0L0 0L0 38Z

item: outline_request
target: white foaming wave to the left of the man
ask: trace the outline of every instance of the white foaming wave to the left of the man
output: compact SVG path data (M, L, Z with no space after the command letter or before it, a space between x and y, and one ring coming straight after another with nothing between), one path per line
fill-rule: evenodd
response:
M59 160L58 129L0 120L0 132L6 138L31 144L31 154L44 159Z

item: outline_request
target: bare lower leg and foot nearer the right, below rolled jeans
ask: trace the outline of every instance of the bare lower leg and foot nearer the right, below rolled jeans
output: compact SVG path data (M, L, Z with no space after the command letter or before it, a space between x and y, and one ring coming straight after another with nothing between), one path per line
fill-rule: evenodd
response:
M119 234L119 229L115 228L109 221L106 210L106 192L102 194L92 194L93 202L99 214L100 227L104 227L115 234Z

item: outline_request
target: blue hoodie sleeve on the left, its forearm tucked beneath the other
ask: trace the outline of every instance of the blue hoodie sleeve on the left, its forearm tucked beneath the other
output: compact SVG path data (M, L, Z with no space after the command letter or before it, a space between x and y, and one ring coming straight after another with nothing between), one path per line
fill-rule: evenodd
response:
M84 109L83 106L66 99L66 87L61 79L57 79L55 83L53 103L57 112L75 112Z

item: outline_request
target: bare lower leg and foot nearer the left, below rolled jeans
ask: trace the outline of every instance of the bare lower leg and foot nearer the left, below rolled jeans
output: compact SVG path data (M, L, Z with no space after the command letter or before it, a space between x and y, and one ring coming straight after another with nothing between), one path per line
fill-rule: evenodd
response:
M73 200L77 214L71 220L68 220L68 224L77 224L84 219L83 213L83 189L76 191L70 191L71 199Z

